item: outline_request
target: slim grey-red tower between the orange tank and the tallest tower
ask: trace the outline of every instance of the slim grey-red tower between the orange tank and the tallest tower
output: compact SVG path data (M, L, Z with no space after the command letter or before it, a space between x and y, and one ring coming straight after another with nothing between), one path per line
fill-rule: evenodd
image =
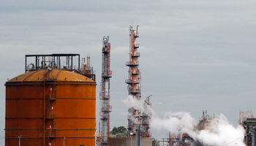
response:
M112 77L112 71L110 71L110 43L109 37L103 37L102 47L102 90L99 93L100 99L102 99L101 108L101 120L102 120L102 145L108 145L108 137L110 134L110 112L112 107L110 106L110 77Z

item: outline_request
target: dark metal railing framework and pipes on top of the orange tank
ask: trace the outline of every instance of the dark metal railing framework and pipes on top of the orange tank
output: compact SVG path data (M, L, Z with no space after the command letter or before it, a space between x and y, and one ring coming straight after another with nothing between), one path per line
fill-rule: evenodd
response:
M39 69L66 70L82 74L95 81L95 72L90 64L90 55L87 55L87 64L85 63L85 58L80 58L80 54L26 55L25 72L37 71Z

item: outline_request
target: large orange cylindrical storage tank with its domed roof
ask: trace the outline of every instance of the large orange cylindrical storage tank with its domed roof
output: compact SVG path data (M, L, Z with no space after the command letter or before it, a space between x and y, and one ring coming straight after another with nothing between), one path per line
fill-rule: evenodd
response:
M5 145L94 145L96 82L40 69L6 82Z

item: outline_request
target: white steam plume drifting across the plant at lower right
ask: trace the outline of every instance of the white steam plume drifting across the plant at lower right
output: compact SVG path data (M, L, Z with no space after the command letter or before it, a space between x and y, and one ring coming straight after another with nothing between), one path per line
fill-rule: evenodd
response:
M144 111L143 102L133 99L132 96L128 96L124 103L127 107L135 107L141 113ZM152 113L150 126L157 131L167 130L176 135L187 133L203 145L245 146L243 142L244 128L232 126L223 114L219 115L217 124L210 123L205 129L198 131L196 129L197 123L189 112L166 112L165 118L159 118L151 107L148 107L148 110Z

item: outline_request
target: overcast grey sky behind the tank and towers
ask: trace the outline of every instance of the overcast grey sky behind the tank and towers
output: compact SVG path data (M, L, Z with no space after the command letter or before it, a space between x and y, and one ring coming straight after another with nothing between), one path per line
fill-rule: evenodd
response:
M0 1L0 137L7 79L24 73L26 54L91 55L97 72L97 121L102 37L110 36L110 128L127 126L129 26L139 25L142 99L152 108L223 113L233 125L254 111L256 1ZM98 124L98 123L97 123ZM153 137L166 133L152 131ZM4 139L0 139L4 145Z

